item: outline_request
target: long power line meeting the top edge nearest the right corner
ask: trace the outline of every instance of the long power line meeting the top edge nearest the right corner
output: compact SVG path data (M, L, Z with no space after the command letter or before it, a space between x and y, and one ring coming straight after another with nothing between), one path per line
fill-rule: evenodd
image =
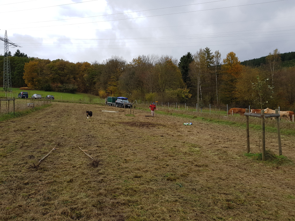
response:
M96 1L96 0L94 0L94 1ZM142 16L142 17L135 17L135 18L113 19L113 20L106 20L106 21L83 22L83 23L73 23L73 24L47 25L47 26L39 26L39 27L12 28L12 29L28 29L28 28L56 27L56 26L76 25L76 24L91 24L91 23L99 23L99 22L112 22L112 21L120 21L120 20L150 18L150 17L158 17L158 16L166 16L166 15L174 15L174 14L185 14L185 13L199 12L199 11L209 11L209 10L216 10L216 9L226 9L226 8L234 8L234 7L241 7L241 6L266 4L266 3L273 3L273 2L279 2L279 1L286 1L286 0L267 1L267 2L244 4L244 5L237 5L237 6L225 6L225 7L213 8L213 9L202 9L202 10L195 10L195 11L175 12L175 13L169 13L169 14L150 15L150 16ZM9 30L12 30L12 29L9 29Z

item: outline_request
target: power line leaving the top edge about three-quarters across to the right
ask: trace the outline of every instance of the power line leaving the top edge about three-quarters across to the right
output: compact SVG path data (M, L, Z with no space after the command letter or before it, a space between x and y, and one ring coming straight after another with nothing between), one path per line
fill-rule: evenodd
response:
M219 2L219 1L227 1L227 0L208 1L208 2L202 2L202 3L196 3L196 4L171 6L171 7L165 7L165 8L146 9L146 10L129 11L129 12L120 12L120 13L114 13L114 14L95 15L95 16L79 17L79 18L57 19L57 20L49 20L49 21L41 21L41 22L56 22L56 21L65 21L65 20L72 20L72 19L83 19L83 18L94 18L94 17L102 17L102 16L118 15L118 14L129 14L129 13L142 12L142 11L153 11L153 10L160 10L160 9L171 9L171 8L184 7L184 6L192 6L192 5L199 5L199 4L207 4L207 3ZM26 22L26 23L18 23L18 24L32 24L32 23L40 23L40 22ZM12 24L12 25L13 25L13 24Z

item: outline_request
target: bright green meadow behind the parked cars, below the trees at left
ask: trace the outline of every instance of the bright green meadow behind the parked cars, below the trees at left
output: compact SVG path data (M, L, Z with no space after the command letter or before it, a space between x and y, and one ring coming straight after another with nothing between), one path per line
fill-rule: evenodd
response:
M12 95L17 98L17 95L24 90L19 90L19 88L13 88L12 90ZM48 92L48 91L43 91L43 90L27 90L29 94L29 98L33 94L40 94L42 97L46 97L47 95L53 95L54 99L56 101L73 101L73 102L86 102L86 103L99 103L99 97L94 96L94 95L89 95L89 94L84 94L84 93L61 93L61 92ZM0 90L0 97L5 97L5 92L2 88ZM89 97L93 99L91 102L89 100Z

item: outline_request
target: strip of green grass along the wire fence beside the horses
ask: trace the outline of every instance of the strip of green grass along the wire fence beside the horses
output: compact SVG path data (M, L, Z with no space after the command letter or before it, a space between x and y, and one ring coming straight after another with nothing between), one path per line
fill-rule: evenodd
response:
M149 109L141 108L141 107L137 107L136 109L149 111ZM168 112L159 111L159 110L157 111L157 114L169 115L169 116L175 116L175 117L183 117L183 118L188 118L188 119L194 119L194 120L197 120L197 121L203 121L203 122L208 122L208 123L216 123L216 124L220 124L220 125L236 126L236 127L246 129L246 122L245 123L239 123L239 122L234 122L234 121L227 121L227 120L221 120L221 119L211 119L211 118L198 117L198 116L192 116L192 115L181 114L181 113L168 113ZM261 125L249 124L249 128L253 129L253 130L261 131ZM265 126L265 131L277 133L276 127ZM281 129L281 134L295 136L295 131L290 130L290 129Z

